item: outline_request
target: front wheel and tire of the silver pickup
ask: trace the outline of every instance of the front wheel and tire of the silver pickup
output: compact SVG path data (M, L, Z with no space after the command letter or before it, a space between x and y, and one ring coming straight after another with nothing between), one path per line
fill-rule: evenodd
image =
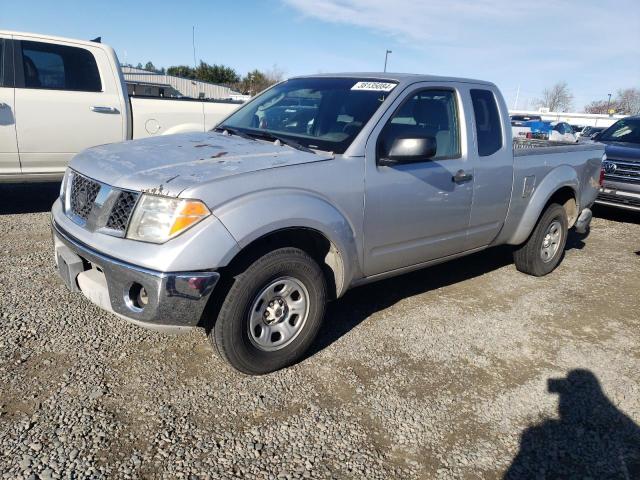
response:
M279 248L234 275L209 338L236 370L273 372L311 346L326 301L320 266L303 250Z

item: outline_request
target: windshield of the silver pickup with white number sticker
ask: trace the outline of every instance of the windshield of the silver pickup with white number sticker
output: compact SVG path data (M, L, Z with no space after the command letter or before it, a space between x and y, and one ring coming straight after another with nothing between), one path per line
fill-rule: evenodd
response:
M258 95L219 128L344 153L396 85L356 78L294 78Z

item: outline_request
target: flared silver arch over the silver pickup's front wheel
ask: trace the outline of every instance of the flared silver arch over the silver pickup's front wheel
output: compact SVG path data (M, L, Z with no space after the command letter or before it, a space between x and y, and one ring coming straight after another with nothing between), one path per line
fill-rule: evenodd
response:
M323 234L335 247L342 269L340 296L361 274L356 234L347 215L328 199L302 189L253 192L217 207L213 214L244 248L269 233L308 228Z

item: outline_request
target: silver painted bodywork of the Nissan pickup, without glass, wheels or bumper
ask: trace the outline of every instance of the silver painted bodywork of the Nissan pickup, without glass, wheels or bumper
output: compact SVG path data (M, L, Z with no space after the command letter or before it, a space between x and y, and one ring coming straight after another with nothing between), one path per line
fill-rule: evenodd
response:
M491 83L341 76L398 82L343 155L314 155L214 132L95 147L76 156L71 168L115 188L200 199L212 216L163 245L89 232L66 217L59 202L52 210L54 222L96 251L158 271L219 269L268 233L313 229L338 253L340 296L377 278L488 246L520 244L560 188L575 192L578 211L596 198L604 147L567 145L514 154L507 107ZM424 88L455 91L461 156L379 166L376 142L386 120ZM502 148L486 157L478 156L471 88L494 93L502 120ZM453 183L460 169L473 180Z

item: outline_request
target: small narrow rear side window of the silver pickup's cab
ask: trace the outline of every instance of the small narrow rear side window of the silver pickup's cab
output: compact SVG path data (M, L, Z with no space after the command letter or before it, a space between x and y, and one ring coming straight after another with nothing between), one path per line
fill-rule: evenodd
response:
M489 90L471 90L471 101L476 120L478 155L493 155L502 148L502 122L496 99Z

